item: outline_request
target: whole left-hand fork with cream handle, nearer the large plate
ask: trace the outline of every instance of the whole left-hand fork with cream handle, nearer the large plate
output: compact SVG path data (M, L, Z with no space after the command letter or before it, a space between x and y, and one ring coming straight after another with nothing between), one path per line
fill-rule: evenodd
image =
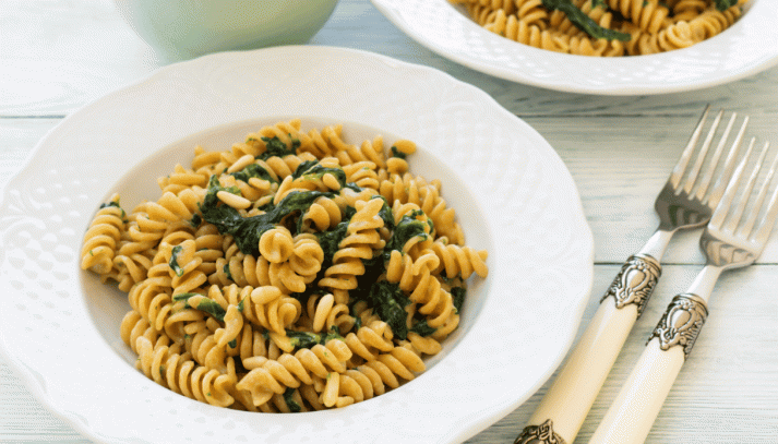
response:
M723 116L723 110L718 112L704 142L698 146L709 109L709 106L705 108L678 164L656 199L659 227L643 249L626 260L600 300L578 344L514 444L572 443L575 440L627 335L659 280L660 261L673 233L680 229L699 227L710 218L734 169L749 118L743 119L726 160L721 160L737 119L737 115L732 113L709 161L705 163Z

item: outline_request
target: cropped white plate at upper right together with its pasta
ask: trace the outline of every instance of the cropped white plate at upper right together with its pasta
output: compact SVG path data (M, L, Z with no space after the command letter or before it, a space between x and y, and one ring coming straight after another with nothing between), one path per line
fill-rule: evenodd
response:
M665 94L778 62L767 0L372 0L421 45L487 74L570 93Z

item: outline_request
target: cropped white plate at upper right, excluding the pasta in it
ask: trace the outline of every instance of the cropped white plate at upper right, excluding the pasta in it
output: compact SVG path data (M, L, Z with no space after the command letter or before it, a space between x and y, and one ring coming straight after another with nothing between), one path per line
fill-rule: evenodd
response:
M371 0L432 51L476 71L550 89L643 95L698 89L778 63L778 2L751 0L729 29L685 49L595 58L532 48L478 26L447 0Z

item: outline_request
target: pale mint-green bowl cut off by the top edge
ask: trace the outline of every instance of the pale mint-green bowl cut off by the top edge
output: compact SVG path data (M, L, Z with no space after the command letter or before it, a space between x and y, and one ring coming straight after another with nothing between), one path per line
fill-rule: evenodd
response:
M122 17L169 59L308 43L337 0L116 0Z

